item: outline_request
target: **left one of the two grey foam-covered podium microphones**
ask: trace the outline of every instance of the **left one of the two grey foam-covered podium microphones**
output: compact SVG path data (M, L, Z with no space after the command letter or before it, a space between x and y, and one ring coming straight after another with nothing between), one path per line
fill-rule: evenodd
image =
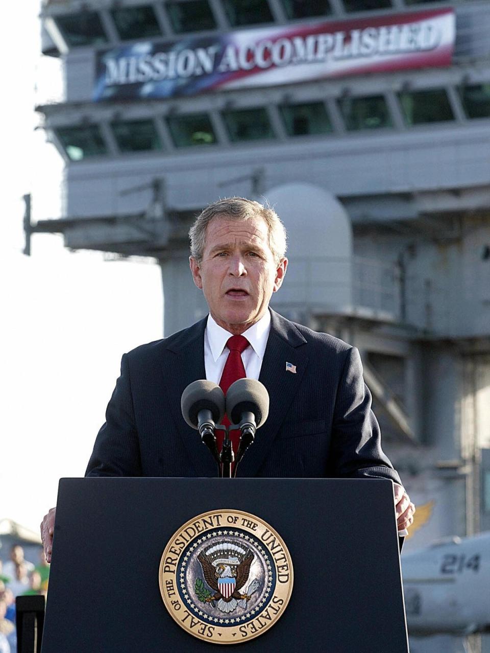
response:
M183 391L180 400L182 417L189 426L198 430L202 442L213 454L219 464L216 446L215 423L221 422L224 415L224 394L212 381L193 381Z

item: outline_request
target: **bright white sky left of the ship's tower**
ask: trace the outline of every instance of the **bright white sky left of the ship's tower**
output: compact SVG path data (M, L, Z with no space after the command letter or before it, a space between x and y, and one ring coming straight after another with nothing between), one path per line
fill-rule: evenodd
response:
M84 475L121 355L162 334L156 264L69 253L45 234L22 254L23 194L33 193L37 219L61 217L63 161L35 131L35 104L56 97L61 81L56 60L40 61L38 13L37 0L11 5L0 39L10 62L0 107L0 520L33 530L55 505L59 478Z

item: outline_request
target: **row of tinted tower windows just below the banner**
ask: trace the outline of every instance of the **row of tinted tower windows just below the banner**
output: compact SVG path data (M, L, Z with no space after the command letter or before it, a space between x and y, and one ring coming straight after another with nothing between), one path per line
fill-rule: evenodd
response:
M460 89L467 118L490 118L490 84L474 84ZM446 89L401 91L398 99L406 125L451 121L455 119ZM337 99L339 114L346 131L390 129L393 118L384 95L342 97ZM333 124L322 101L280 104L279 116L287 136L328 135ZM221 119L232 143L276 138L265 107L228 108ZM218 142L211 117L206 113L168 116L166 126L176 148L211 145ZM151 119L113 121L110 124L121 153L163 150L161 136ZM72 161L108 153L98 125L59 127L59 142Z

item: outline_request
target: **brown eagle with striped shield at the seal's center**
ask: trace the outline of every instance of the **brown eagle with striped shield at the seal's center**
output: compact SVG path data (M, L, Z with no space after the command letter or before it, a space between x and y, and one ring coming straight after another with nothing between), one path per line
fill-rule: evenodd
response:
M254 554L250 549L247 550L244 556L240 556L241 561L234 558L230 560L231 564L220 561L219 564L213 564L212 559L204 552L200 552L198 560L202 567L202 573L207 584L215 594L206 598L207 603L217 601L217 607L224 613L234 611L237 605L245 607L247 601L251 599L253 591L256 590L254 586L249 586L250 594L241 594L241 590L249 579L250 565L254 560ZM238 563L238 564L233 564ZM253 583L251 583L252 585Z

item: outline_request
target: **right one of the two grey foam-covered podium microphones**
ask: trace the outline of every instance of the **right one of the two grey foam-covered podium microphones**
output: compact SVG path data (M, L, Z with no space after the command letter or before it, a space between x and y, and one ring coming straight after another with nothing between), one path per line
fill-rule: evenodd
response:
M234 475L243 454L253 443L256 430L269 415L269 393L260 381L238 379L226 392L226 415L241 430ZM231 428L231 426L230 426Z

